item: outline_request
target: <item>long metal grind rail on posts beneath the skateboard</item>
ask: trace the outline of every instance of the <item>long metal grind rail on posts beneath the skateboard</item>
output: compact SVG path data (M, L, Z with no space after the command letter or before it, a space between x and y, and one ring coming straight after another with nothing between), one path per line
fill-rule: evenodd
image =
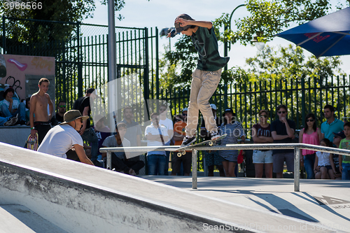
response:
M100 148L101 153L107 154L107 169L111 169L111 153L113 152L141 152L166 151L165 148L180 148L180 146L136 146L136 147L111 147ZM198 150L294 150L294 171L300 170L300 149L316 150L321 152L334 153L337 155L350 156L350 150L330 148L326 146L314 146L304 143L289 144L228 144L225 146L197 146L192 148L192 188L197 189L197 151ZM300 172L294 172L294 192L300 192Z

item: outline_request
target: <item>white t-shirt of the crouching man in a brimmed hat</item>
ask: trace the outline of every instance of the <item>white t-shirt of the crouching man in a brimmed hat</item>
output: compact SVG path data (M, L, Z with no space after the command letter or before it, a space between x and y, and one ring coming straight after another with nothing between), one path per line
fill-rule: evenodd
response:
M66 159L66 152L76 144L83 146L83 139L76 129L67 124L56 125L46 134L38 152Z

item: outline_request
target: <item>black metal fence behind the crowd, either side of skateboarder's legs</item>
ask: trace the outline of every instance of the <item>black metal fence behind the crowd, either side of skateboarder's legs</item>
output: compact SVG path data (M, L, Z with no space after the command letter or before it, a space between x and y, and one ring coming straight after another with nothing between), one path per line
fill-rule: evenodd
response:
M279 104L287 106L288 118L295 121L297 129L304 125L308 113L316 115L316 123L320 127L325 120L323 106L326 104L335 107L337 118L344 120L350 116L349 83L350 76L337 76L219 85L210 103L218 107L218 116L225 108L232 108L248 135L251 127L258 122L258 112L267 109L270 121L273 121L277 118L276 106ZM182 88L160 91L160 99L169 102L172 115L181 113L181 109L188 106L189 97L190 90Z

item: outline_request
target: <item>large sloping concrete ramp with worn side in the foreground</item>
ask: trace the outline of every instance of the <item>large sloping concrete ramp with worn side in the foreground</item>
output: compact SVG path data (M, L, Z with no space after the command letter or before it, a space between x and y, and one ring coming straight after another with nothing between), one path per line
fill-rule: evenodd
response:
M0 171L1 205L25 206L66 232L281 232L282 225L295 226L283 232L318 232L321 226L5 143Z

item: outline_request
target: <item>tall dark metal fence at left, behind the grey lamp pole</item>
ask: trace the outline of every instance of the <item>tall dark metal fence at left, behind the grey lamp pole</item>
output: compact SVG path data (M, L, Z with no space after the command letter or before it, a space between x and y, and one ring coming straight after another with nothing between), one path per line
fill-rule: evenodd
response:
M109 81L107 26L4 16L1 26L1 53L55 57L56 98L66 101L68 109L88 87L101 91ZM156 97L158 29L116 27L116 55L117 76L133 77L124 86L138 85L144 99ZM144 115L139 111L135 120Z

